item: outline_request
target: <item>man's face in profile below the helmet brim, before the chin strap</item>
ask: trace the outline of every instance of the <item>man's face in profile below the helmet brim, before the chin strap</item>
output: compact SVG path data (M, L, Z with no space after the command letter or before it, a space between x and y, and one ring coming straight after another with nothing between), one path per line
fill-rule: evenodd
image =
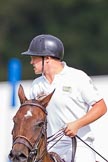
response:
M33 70L35 74L42 73L42 57L31 56L30 64L33 65Z

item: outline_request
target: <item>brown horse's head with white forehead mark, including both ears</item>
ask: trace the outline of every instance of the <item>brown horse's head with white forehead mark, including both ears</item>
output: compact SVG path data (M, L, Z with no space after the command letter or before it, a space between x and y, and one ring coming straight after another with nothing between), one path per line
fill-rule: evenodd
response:
M31 162L41 159L46 151L46 106L53 93L44 99L28 100L20 85L21 106L13 118L13 146L9 154L12 162Z

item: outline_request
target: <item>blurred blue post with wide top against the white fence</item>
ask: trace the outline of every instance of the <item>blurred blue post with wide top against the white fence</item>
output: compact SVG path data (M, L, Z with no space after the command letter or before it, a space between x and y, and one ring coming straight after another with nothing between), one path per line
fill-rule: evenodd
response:
M16 106L16 85L21 80L22 64L17 58L11 58L8 62L8 81L12 86L11 106Z

